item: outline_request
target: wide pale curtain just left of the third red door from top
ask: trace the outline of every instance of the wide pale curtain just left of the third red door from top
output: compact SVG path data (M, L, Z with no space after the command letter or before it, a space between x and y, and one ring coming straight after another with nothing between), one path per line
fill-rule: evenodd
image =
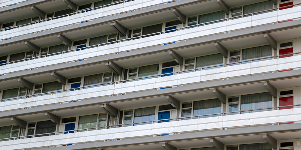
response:
M252 110L252 109L272 107L272 95L269 92L241 95L240 101L241 101L240 104L241 110ZM269 111L269 110L272 109L253 110L251 112L262 112L262 111ZM248 113L248 112L241 112L241 113Z

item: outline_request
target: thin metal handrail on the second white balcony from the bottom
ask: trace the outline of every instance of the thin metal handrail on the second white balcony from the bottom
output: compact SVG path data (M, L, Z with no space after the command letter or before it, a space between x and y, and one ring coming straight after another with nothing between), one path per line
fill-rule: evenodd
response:
M27 96L22 96L22 97L8 98L8 99L0 100L0 102L9 101L9 100L18 100L18 99L36 97L36 96L42 96L42 95L56 94L56 93L61 93L61 92L64 92L64 91L79 90L79 89L84 89L84 88L89 88L89 87L93 88L94 86L98 87L98 86L101 86L101 85L118 84L118 82L123 83L123 82L127 82L127 81L138 81L139 79L145 79L145 78L152 78L152 77L157 78L157 77L168 75L168 74L176 74L176 73L180 74L180 73L183 73L183 72L194 71L194 70L203 70L203 69L212 68L212 67L220 67L220 66L225 66L226 67L226 66L230 66L231 64L240 64L240 63L243 63L243 62L251 62L252 63L252 61L261 60L261 59L268 59L268 58L275 58L275 57L277 57L277 59L278 59L281 56L295 55L295 54L301 54L301 52L295 52L295 53L291 53L291 54L284 54L284 55L277 55L277 56L270 56L270 57L263 57L263 58L256 58L256 59L251 59L251 60L246 60L246 61L239 61L239 62L232 62L232 63L227 63L227 64L218 64L218 65L213 65L213 66L208 66L208 67L201 67L201 68L196 68L196 69L191 69L191 70L176 71L176 72L172 72L172 73L163 73L163 74L157 74L157 75L152 75L152 76L138 77L138 78L135 78L135 79L126 79L126 80L120 80L120 81L114 81L114 82L108 82L108 83L100 83L100 84L95 84L95 85L82 86L82 87L78 87L78 88L71 88L71 89L54 91L54 92L49 92L49 93L40 93L40 94L35 94L35 95L27 95Z

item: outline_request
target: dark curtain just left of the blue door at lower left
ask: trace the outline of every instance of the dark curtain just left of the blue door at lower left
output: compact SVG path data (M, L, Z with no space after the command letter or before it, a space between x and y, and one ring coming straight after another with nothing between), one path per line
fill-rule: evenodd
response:
M55 132L55 129L56 129L56 123L54 123L50 120L37 122L36 134L52 133L52 132ZM44 137L44 136L48 136L48 135L40 135L40 136L36 136L36 137Z

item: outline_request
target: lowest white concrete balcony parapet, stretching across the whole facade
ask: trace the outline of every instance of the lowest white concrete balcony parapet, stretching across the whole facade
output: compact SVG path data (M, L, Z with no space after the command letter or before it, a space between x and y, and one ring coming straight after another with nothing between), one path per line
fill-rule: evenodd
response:
M0 142L1 150L33 149L47 146L61 146L64 144L79 144L103 142L113 139L128 139L137 137L156 136L158 134L185 134L206 130L220 130L222 128L249 127L256 125L271 125L281 122L301 121L301 108L272 110L264 113L246 113L237 115L218 116L202 119L171 121L138 125L121 128L110 128L95 131L84 131L70 134L58 134L46 137L35 137Z

